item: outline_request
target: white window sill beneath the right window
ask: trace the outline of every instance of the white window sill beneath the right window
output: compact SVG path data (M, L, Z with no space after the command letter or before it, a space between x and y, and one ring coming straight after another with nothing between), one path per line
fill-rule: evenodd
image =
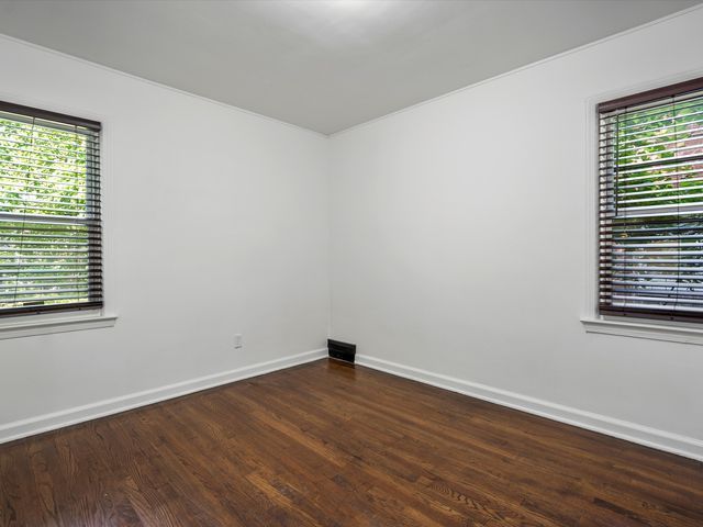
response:
M703 345L703 326L699 328L683 325L649 324L646 322L613 321L596 317L581 318L581 323L587 333Z

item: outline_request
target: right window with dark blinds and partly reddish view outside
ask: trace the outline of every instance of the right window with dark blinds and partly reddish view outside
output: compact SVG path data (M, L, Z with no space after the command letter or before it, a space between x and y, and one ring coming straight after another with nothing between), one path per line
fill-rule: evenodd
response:
M703 78L598 110L599 311L703 322Z

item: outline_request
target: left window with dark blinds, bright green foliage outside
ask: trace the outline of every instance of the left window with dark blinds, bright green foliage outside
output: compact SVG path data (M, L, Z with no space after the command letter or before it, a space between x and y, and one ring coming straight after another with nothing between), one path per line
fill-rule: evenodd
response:
M0 102L0 316L102 306L100 123Z

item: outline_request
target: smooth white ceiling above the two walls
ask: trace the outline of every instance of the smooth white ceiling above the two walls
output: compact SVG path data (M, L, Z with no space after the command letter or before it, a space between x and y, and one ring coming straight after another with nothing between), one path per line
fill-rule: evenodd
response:
M700 0L0 0L0 32L331 134Z

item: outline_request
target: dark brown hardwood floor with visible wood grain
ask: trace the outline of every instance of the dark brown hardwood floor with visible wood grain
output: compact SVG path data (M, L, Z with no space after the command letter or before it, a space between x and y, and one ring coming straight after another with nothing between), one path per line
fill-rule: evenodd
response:
M323 360L0 446L0 525L701 527L703 466Z

